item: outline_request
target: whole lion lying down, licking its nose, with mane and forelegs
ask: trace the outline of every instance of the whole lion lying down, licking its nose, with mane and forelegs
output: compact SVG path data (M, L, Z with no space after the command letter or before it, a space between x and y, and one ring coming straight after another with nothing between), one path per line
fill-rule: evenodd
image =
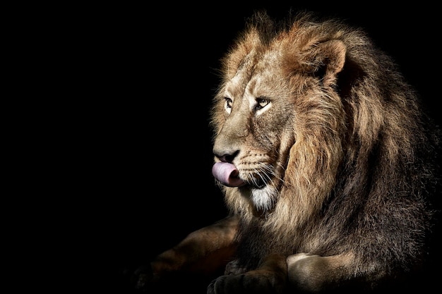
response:
M234 41L210 110L229 215L160 253L136 286L195 275L209 294L424 287L440 133L393 59L361 28L307 11L258 11Z

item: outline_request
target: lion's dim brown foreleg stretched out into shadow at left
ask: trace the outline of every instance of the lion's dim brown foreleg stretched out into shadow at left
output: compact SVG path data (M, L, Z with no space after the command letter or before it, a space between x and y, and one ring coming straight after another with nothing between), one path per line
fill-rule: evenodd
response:
M154 278L176 271L211 274L231 260L237 217L230 216L190 233L177 246L162 252L151 262Z

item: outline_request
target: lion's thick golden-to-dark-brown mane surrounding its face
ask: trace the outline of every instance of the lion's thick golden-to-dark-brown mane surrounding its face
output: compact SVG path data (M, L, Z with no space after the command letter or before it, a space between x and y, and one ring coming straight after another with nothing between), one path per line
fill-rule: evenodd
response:
M280 145L290 145L279 194L256 217L240 189L222 188L227 207L242 218L244 264L252 268L273 251L350 251L359 255L361 271L374 260L385 261L386 271L410 269L410 261L425 252L438 184L439 135L417 93L362 30L309 13L282 23L257 13L222 59L211 121L215 136L225 122L218 102L226 82L246 56L272 50L277 75L292 85L283 95L293 99L294 117L292 129L279 134ZM324 75L325 65L343 68ZM310 82L315 76L320 83Z

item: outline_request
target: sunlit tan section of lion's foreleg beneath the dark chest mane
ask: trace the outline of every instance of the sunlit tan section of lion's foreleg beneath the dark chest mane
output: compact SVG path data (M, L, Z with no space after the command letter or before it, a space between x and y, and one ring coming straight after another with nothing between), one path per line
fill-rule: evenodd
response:
M299 253L287 257L291 288L301 293L321 293L355 281L352 255L321 257Z

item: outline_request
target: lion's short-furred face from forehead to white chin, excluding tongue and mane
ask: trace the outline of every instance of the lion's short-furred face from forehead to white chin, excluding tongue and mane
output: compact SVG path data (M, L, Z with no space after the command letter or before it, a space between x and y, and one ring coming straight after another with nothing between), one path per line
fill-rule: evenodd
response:
M294 111L289 83L268 51L257 63L253 52L217 95L222 128L215 137L217 161L236 166L257 209L270 209L277 200L294 142ZM269 71L268 68L272 68Z

